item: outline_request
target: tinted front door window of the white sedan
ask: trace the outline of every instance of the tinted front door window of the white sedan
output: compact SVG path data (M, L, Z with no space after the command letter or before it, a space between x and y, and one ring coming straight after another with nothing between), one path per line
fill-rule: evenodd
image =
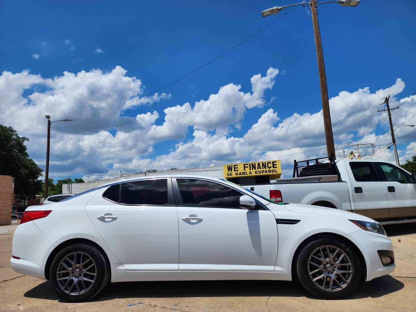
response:
M239 208L243 194L218 183L176 179L184 206Z

